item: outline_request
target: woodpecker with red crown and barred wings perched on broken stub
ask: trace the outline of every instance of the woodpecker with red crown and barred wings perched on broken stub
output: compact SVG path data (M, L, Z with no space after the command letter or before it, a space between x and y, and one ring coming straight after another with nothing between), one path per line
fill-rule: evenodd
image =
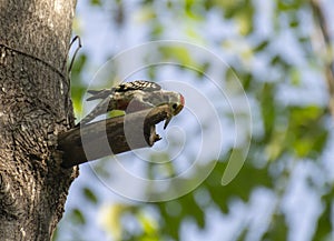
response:
M92 96L87 101L101 99L101 102L81 120L80 124L86 124L111 110L131 113L168 104L171 116L165 122L164 129L166 129L171 118L178 114L185 106L185 99L180 93L163 90L159 84L145 80L125 82L111 89L89 90L88 92Z

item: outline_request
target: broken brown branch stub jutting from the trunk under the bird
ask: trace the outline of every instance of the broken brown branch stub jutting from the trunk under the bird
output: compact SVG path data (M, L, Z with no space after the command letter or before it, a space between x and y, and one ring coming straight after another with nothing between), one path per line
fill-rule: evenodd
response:
M58 137L63 168L110 154L151 147L160 137L155 124L170 116L168 106L110 118L71 129Z

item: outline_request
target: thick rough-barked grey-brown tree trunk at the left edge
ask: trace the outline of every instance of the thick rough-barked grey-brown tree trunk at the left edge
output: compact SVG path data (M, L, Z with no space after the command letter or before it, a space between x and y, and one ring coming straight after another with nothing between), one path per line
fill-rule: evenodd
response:
M78 172L53 154L73 122L65 63L75 7L0 0L1 241L50 240Z

